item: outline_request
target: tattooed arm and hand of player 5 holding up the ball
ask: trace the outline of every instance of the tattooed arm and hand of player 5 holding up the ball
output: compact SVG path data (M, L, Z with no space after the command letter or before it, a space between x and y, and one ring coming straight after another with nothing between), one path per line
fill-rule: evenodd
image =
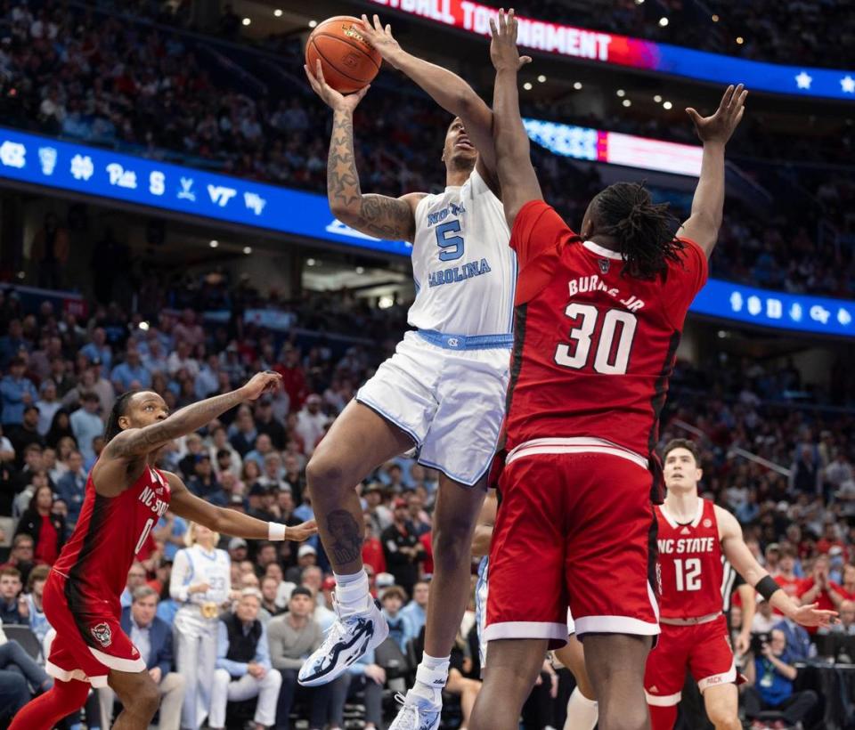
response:
M327 158L327 199L332 214L342 223L369 236L412 241L416 231L416 206L422 194L409 193L401 198L363 195L359 184L354 153L354 110L369 86L345 96L324 80L321 61L314 69L303 68L314 93L333 111L330 155Z

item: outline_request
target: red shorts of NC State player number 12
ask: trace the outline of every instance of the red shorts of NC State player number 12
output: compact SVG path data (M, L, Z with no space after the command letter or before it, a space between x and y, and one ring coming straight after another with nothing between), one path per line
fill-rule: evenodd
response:
M644 673L647 704L669 707L680 702L687 668L701 692L710 686L737 681L728 624L723 615L691 626L662 625L659 644L647 656Z

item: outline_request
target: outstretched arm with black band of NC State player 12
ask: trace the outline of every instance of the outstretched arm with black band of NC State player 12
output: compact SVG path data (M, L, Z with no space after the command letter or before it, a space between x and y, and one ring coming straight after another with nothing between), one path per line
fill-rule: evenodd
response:
M724 556L745 582L756 588L778 611L802 626L827 626L835 619L835 611L818 611L817 604L795 603L751 554L751 550L745 545L742 527L739 526L737 518L721 507L715 507L715 517L719 523Z

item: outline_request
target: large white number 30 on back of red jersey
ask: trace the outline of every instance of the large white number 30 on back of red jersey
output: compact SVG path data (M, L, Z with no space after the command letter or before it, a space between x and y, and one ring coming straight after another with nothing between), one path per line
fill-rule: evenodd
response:
M555 361L565 368L582 369L590 361L591 345L594 345L593 366L601 375L623 375L630 364L632 339L638 319L632 312L609 309L603 315L599 337L595 337L599 310L593 304L567 304L564 311L577 327L570 330L570 342L559 343L555 350Z

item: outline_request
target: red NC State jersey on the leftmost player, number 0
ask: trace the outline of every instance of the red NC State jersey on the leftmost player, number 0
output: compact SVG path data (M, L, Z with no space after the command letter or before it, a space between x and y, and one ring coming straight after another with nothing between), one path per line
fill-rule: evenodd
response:
M108 607L118 615L119 596L134 556L167 507L169 484L157 469L147 466L118 497L98 494L90 472L80 519L53 564L69 579L66 597L73 611L90 613L95 607Z

